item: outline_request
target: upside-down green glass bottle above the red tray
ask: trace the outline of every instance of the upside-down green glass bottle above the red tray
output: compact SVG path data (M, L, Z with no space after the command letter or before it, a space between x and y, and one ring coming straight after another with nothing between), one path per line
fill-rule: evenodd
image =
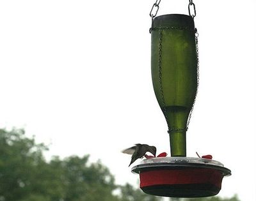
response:
M186 131L197 90L195 25L188 15L161 15L152 24L151 70L168 124L172 156L186 156Z

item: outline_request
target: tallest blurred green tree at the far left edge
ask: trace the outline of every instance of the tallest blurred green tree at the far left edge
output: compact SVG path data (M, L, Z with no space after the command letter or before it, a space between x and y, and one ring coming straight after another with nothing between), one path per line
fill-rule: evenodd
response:
M21 200L40 184L40 169L47 148L24 137L24 130L0 130L0 196L2 200ZM39 179L39 181L38 181ZM36 193L36 192L35 192Z

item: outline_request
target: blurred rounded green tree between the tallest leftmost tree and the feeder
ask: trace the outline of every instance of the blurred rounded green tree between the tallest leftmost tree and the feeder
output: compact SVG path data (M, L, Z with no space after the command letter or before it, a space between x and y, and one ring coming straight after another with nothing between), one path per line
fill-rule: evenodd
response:
M59 179L65 190L63 200L116 200L113 175L100 162L88 165L88 158L70 156L62 161L58 157L51 160L51 167L61 170Z

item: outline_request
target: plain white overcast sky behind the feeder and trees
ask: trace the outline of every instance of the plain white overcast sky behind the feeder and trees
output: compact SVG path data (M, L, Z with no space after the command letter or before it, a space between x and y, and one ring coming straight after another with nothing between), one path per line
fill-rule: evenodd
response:
M51 144L47 156L91 155L137 185L120 153L136 143L170 152L150 72L154 1L0 1L0 127ZM232 170L220 196L256 200L256 1L199 1L200 86L188 156ZM158 15L188 14L188 1Z

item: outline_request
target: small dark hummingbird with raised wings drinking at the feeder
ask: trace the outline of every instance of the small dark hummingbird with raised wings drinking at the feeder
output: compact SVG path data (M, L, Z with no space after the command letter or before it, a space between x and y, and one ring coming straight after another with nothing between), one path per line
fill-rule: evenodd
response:
M125 154L132 154L132 160L130 165L134 163L134 161L136 161L138 158L142 158L143 156L145 156L147 152L152 153L156 157L156 147L147 144L135 144L135 146L122 151L122 153Z

